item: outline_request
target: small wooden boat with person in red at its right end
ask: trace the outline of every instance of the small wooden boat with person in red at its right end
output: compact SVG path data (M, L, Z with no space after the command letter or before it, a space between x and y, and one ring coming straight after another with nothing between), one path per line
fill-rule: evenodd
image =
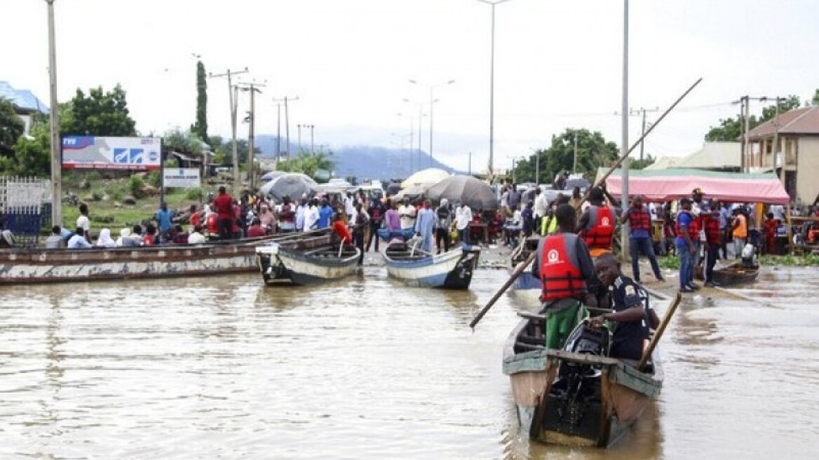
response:
M290 249L277 242L256 247L256 262L267 285L314 284L355 273L361 250L326 244L310 250Z

